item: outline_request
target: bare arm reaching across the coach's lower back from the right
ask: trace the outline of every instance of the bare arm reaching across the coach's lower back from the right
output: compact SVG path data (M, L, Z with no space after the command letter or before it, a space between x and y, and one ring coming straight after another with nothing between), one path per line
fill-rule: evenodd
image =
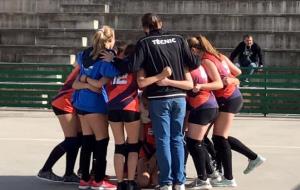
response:
M158 86L173 86L175 88L180 88L184 90L191 90L194 87L193 79L190 72L185 69L185 80L171 80L169 78L164 78L157 82Z

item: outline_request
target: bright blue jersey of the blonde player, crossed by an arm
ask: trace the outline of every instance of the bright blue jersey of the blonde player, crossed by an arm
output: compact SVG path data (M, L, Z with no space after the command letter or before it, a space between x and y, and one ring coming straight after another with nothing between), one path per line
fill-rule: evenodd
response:
M92 79L99 80L101 77L115 77L119 71L110 63L101 59L93 60L90 57L92 48L88 48L77 54L76 60L80 65L80 76L86 75ZM75 108L91 113L107 113L108 96L105 87L100 93L88 89L76 90L73 94L73 105Z

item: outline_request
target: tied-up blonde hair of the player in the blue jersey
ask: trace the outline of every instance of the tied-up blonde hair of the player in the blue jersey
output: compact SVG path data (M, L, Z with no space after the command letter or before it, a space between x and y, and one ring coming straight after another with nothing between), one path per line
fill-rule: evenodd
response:
M91 52L91 56L94 60L97 59L101 52L106 49L106 44L111 42L114 37L114 29L109 26L103 26L94 34L93 51Z

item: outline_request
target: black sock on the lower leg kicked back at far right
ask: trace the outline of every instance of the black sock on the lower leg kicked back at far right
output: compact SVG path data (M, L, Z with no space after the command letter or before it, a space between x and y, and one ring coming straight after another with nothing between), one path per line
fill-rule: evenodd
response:
M257 158L257 154L255 154L250 148L248 148L246 145L244 145L237 138L229 136L228 142L229 142L232 150L234 150L240 154L243 154L248 159L255 160Z

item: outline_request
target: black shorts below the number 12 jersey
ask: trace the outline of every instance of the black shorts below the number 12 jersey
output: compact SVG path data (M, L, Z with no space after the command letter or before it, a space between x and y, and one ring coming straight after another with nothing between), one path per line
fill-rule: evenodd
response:
M140 112L127 110L108 111L108 121L111 122L133 122L140 119Z

